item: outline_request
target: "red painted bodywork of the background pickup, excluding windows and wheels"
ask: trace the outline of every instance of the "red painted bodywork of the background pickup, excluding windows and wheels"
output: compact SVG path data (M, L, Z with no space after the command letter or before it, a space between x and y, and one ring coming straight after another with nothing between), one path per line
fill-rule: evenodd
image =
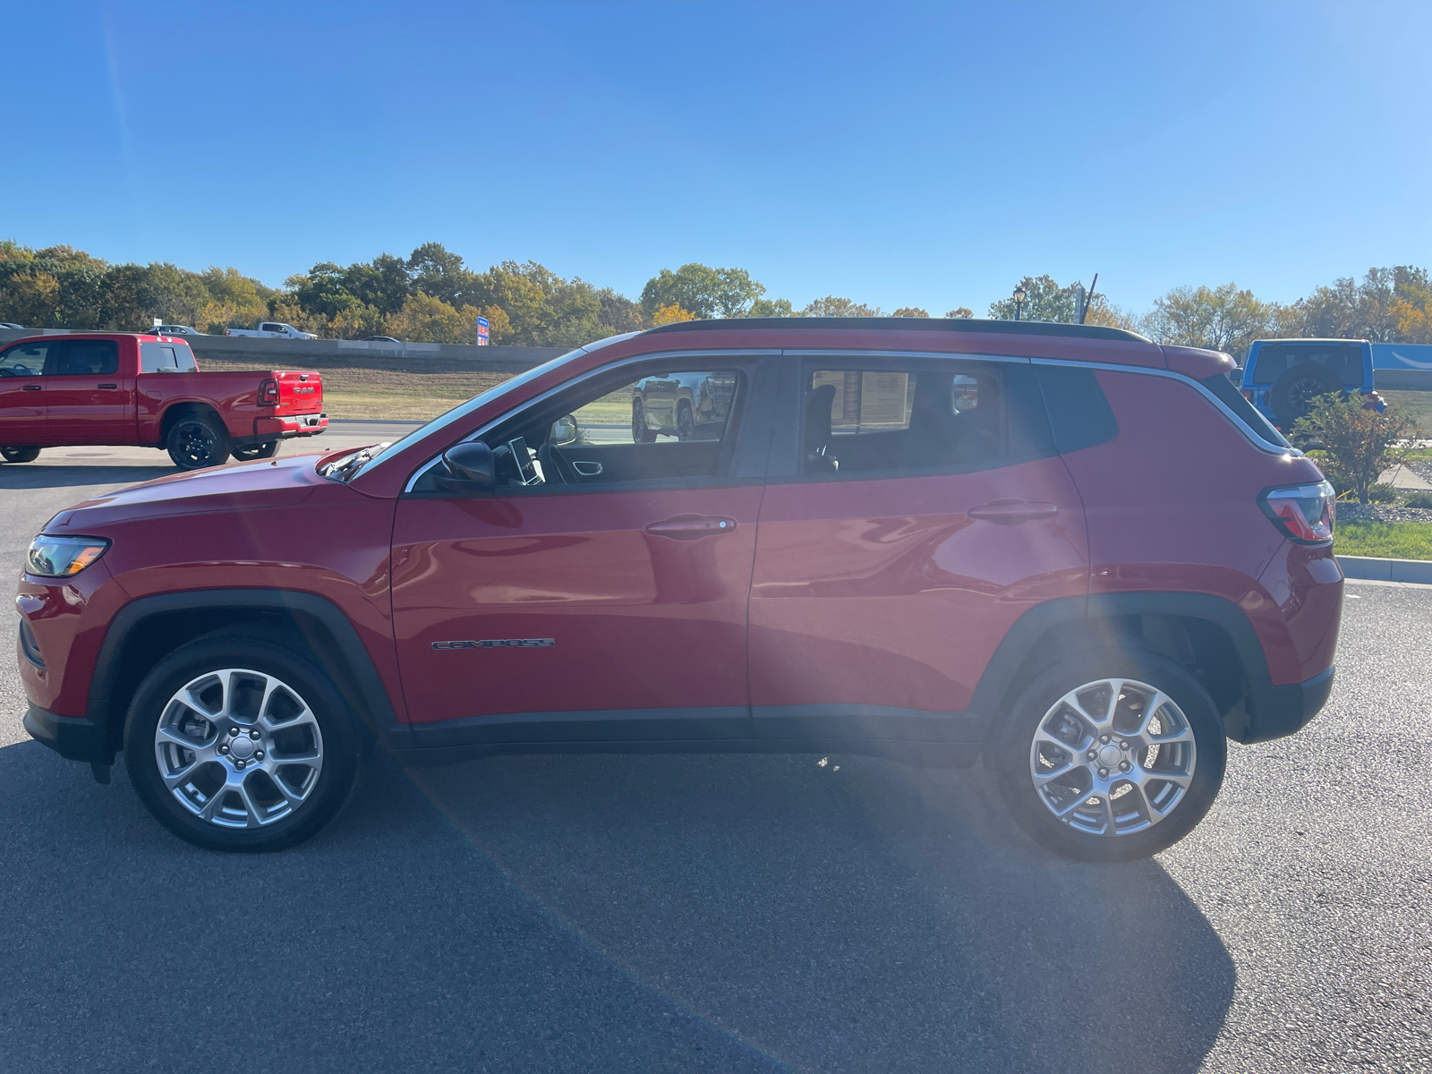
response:
M140 372L140 345L188 344L180 338L130 332L72 332L29 337L0 348L4 355L27 344L112 341L119 368L105 374L0 377L0 445L165 442L165 415L175 407L203 407L222 421L235 444L312 437L328 427L324 381L316 372ZM265 384L271 402L262 400Z

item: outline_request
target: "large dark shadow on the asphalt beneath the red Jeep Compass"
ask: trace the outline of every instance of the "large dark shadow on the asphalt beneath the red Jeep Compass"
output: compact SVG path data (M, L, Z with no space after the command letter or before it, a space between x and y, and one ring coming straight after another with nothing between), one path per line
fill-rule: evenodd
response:
M1233 997L1157 862L1047 856L979 772L377 762L262 856L125 783L0 749L11 1068L1193 1071Z

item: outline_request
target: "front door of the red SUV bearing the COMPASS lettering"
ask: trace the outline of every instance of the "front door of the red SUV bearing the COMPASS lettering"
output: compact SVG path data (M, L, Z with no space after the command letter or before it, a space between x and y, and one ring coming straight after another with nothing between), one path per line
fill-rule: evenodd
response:
M644 375L713 365L739 384L725 437L633 441ZM442 491L441 461L410 483L392 613L420 743L749 737L746 601L775 378L775 357L623 364L487 430L498 488ZM514 450L528 445L538 477L523 484Z

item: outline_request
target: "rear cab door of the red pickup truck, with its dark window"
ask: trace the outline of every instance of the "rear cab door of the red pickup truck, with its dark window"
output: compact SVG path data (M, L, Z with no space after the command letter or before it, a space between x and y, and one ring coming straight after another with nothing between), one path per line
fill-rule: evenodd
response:
M44 417L56 444L135 440L135 381L119 375L115 339L60 339L44 361Z

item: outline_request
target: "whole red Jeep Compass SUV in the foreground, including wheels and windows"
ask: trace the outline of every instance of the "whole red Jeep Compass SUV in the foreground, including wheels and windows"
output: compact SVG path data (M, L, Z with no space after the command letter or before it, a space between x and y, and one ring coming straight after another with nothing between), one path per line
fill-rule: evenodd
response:
M1226 736L1332 687L1332 488L1230 368L1028 322L603 339L395 444L57 514L16 601L26 727L102 782L123 750L219 849L312 835L375 739L984 755L1040 842L1144 856Z

